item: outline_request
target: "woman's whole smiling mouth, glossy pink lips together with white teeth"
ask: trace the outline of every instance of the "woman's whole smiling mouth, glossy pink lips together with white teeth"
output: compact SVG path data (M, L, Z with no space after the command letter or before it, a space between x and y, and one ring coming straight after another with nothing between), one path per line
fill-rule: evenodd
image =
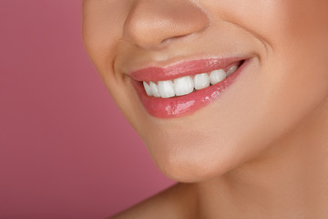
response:
M190 115L218 99L252 58L210 58L130 73L145 110L160 119Z

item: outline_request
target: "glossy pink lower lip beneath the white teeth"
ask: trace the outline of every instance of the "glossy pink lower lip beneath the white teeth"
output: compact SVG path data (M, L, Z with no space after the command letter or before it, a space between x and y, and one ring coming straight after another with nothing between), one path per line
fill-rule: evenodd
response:
M244 60L240 68L219 83L180 97L169 99L150 97L143 88L142 82L133 79L133 85L137 90L142 105L151 116L161 119L183 117L219 99L224 94L224 91L236 81L236 78L241 75L241 72L244 71L250 62L251 59Z

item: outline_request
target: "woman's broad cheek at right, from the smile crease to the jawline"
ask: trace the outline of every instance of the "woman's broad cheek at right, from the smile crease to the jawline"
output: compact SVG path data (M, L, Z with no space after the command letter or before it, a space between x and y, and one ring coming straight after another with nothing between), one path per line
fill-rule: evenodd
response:
M247 29L267 48L259 78L268 115L277 118L272 122L282 130L295 125L328 94L328 1L231 0L220 4L226 12L221 13L222 19Z

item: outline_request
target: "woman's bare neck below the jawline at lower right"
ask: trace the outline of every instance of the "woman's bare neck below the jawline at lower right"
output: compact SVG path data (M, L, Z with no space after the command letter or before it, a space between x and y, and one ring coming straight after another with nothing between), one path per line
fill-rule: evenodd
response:
M327 218L328 110L256 159L197 185L201 218Z

